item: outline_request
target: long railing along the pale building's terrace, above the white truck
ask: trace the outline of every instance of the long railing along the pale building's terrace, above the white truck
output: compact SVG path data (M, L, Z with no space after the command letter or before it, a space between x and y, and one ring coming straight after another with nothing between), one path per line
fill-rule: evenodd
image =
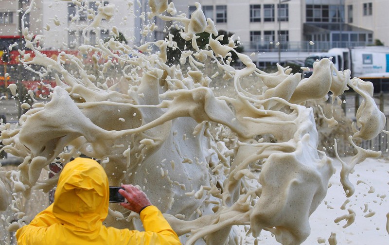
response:
M242 42L246 52L278 52L277 42ZM315 41L311 45L309 41L280 43L280 50L293 52L327 52L332 48L351 48L357 46L373 45L371 42L346 42L346 41Z

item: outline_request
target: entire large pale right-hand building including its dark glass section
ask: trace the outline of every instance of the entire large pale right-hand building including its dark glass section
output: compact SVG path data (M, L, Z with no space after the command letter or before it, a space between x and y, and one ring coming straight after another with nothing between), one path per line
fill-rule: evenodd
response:
M213 19L218 30L226 30L239 36L246 52L258 52L253 60L258 61L260 67L269 62L283 63L296 58L302 60L311 52L324 52L335 47L371 45L375 39L389 43L386 36L389 32L380 32L381 29L376 28L375 22L378 19L388 19L384 13L388 9L388 0L188 2L189 14L195 11L195 2L199 2L206 17ZM374 12L377 14L373 18L371 11L375 8L381 8L382 11ZM353 15L354 22L348 16L346 19L346 11L348 16ZM387 22L380 23L382 30L389 28L384 27ZM311 45L310 41L315 45Z

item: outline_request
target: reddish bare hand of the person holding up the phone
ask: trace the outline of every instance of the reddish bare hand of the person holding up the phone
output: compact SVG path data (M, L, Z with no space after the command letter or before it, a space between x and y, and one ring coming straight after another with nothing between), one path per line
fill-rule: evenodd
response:
M121 203L124 208L140 213L144 207L152 205L146 194L133 185L122 185L119 193L127 199L128 203Z

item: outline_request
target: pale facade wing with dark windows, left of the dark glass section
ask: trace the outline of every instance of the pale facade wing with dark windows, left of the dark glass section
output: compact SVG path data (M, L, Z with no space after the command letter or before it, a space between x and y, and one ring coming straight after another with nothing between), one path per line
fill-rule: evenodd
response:
M189 0L189 14L195 2L218 30L239 37L245 50L271 50L276 42L300 42L304 0ZM281 2L281 4L280 4ZM293 14L291 14L293 13Z

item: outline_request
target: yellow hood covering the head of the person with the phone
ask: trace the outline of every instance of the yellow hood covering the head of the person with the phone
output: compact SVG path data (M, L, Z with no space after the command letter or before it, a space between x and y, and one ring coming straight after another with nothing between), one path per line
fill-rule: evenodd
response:
M78 157L63 168L54 194L53 215L73 230L94 230L108 214L109 184L98 162Z

